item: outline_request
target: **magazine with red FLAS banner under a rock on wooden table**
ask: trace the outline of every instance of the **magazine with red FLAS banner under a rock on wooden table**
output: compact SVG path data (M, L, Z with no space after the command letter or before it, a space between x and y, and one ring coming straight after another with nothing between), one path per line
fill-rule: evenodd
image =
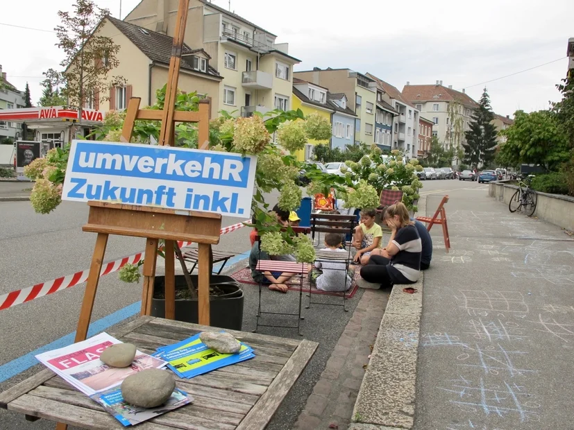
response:
M162 359L136 351L133 363L128 368L112 368L100 361L99 356L106 347L115 343L121 342L107 333L101 333L58 350L43 352L36 358L89 396L118 386L134 373L163 368L167 364Z

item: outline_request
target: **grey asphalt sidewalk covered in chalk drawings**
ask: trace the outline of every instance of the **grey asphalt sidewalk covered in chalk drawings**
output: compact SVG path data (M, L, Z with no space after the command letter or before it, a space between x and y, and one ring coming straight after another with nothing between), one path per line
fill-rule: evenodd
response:
M441 196L428 196L427 215ZM572 429L574 241L486 190L453 191L432 228L414 429Z

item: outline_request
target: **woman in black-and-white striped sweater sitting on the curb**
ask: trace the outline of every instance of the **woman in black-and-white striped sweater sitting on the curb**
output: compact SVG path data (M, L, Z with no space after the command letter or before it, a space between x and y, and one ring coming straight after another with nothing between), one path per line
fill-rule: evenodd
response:
M387 207L383 222L391 229L389 244L379 255L371 255L357 284L372 289L414 284L421 273L422 243L407 207L403 203Z

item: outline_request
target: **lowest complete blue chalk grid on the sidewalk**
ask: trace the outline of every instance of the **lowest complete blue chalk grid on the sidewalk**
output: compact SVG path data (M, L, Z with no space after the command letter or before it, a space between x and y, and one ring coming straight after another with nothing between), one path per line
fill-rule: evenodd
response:
M480 412L484 415L496 415L500 418L509 416L518 418L521 422L538 422L540 420L537 408L526 406L533 395L526 393L524 387L516 384L488 385L480 378L478 384L459 384L450 388L441 388L447 393L456 395L450 403L464 406L469 411ZM524 403L523 403L524 402ZM471 427L472 428L472 427Z

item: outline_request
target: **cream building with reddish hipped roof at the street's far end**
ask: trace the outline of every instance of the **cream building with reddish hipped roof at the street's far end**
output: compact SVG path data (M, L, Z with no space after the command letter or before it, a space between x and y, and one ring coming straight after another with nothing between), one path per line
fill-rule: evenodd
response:
M459 92L452 85L444 87L442 80L434 85L407 85L403 96L426 118L431 119L432 135L437 136L445 149L459 147L466 141L464 132L469 130L476 103L464 89Z

